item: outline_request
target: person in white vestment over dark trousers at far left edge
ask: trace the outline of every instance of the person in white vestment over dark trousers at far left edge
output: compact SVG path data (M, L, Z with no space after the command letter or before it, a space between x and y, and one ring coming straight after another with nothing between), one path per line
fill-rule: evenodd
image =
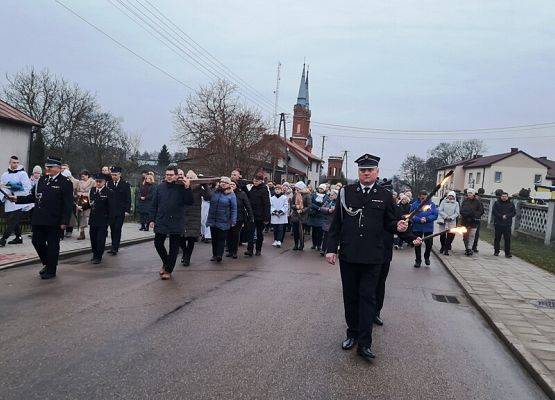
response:
M27 176L25 169L19 165L19 158L17 156L10 157L10 164L8 170L2 174L0 178L0 187L9 195L14 196L27 196L31 190L31 180ZM6 213L6 230L0 238L0 247L6 245L6 240L15 234L15 239L8 242L8 244L21 244L23 239L21 237L20 222L23 213L33 208L33 204L15 204L14 202L4 198L0 193L0 202L4 203L4 211Z

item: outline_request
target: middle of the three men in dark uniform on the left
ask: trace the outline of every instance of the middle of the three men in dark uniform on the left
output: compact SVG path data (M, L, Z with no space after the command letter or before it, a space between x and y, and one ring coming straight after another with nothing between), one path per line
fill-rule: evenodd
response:
M106 247L108 225L115 215L114 192L106 186L106 177L99 173L94 176L95 186L89 192L89 237L93 252L92 263L100 264Z

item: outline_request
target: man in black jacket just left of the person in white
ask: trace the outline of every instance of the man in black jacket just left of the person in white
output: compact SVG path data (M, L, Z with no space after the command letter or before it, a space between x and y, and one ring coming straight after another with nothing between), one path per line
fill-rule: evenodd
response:
M252 180L253 186L247 193L251 202L254 222L250 225L249 244L246 256L251 257L254 249L254 233L256 230L256 255L259 256L264 242L264 226L270 223L270 191L264 183L264 176L257 174Z

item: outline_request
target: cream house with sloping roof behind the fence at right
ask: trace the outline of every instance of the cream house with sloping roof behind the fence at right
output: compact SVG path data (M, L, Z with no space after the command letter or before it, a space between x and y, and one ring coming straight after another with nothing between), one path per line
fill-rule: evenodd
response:
M522 188L530 188L534 193L535 185L555 184L555 161L547 157L533 157L518 148L445 165L437 170L438 182L451 169L455 171L453 178L444 186L443 192L482 188L485 194L490 195L497 189L516 194Z

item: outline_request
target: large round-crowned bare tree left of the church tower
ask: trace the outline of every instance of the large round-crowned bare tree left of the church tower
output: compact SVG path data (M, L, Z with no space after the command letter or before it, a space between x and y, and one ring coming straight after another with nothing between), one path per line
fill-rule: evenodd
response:
M173 114L176 140L200 149L213 174L251 169L251 150L268 128L257 110L239 101L237 87L224 80L201 87Z

